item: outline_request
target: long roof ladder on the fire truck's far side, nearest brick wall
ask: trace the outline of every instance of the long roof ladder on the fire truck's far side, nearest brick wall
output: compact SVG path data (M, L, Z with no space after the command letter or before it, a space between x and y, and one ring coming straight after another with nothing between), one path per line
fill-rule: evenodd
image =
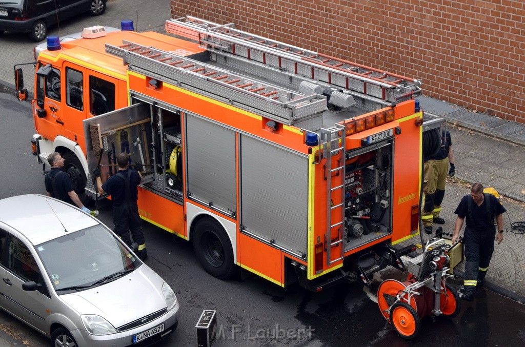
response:
M186 16L167 20L165 27L168 33L195 39L208 50L257 61L297 76L328 83L331 87L358 92L362 98L377 98L384 104L392 105L421 93L419 86L422 82L419 79L246 33L235 29L233 23L219 25Z

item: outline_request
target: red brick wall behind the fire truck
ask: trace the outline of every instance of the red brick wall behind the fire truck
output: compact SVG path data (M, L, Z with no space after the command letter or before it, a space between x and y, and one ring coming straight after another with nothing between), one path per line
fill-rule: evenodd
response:
M172 17L423 79L424 94L525 123L523 0L172 0Z

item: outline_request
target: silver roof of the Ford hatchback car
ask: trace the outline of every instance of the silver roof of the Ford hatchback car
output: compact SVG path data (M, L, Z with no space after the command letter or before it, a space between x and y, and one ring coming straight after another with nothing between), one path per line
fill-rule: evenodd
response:
M40 194L0 200L0 223L18 230L33 245L100 224L79 209Z

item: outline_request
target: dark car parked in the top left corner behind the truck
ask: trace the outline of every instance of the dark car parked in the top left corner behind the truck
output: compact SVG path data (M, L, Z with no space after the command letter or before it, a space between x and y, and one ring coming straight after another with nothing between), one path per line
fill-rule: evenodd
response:
M47 28L81 13L98 16L106 10L107 0L0 0L0 35L4 31L29 33L41 41Z

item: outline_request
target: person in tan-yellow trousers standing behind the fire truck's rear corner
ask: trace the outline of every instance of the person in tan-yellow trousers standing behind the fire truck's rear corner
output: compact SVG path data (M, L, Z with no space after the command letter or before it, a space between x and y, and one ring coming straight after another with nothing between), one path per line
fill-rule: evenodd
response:
M442 135L442 145L439 151L434 156L424 159L425 176L423 193L425 194L425 204L423 205L421 220L425 226L425 233L427 234L432 234L433 223L445 224L445 220L439 217L439 213L441 212L441 204L445 196L447 173L450 176L456 174L450 132L443 130Z

